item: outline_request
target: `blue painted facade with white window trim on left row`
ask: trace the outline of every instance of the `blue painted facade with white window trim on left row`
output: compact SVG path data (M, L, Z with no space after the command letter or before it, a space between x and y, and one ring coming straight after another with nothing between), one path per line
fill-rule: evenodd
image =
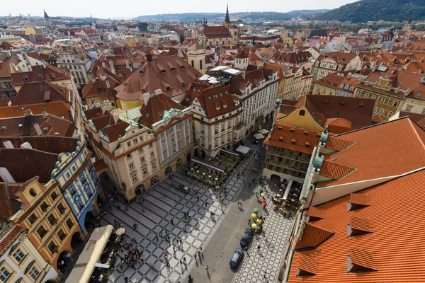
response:
M99 180L91 162L91 156L85 141L80 141L76 151L60 154L57 161L60 172L55 175L55 180L59 183L65 200L77 218L83 233L87 233L84 226L86 214L92 210L98 211L96 200L99 193Z

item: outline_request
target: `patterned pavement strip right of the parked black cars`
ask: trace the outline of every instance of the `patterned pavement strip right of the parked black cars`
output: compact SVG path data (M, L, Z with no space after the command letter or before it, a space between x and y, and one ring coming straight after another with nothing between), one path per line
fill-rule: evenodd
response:
M261 186L257 187L261 189ZM276 194L273 182L266 181L263 191L266 194L266 203L271 207L271 196ZM259 204L260 213L263 209ZM266 221L263 224L263 232L256 236L251 242L248 254L242 261L241 267L235 275L233 283L246 282L277 282L280 264L283 259L285 245L290 236L290 229L293 224L293 217L284 218L273 209L268 209L264 214ZM260 250L258 250L260 246Z

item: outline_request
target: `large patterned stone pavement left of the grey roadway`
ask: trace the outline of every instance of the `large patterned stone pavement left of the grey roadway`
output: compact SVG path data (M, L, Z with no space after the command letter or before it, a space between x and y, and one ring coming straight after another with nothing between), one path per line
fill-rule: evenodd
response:
M225 208L243 186L243 180L236 176L237 171L249 171L252 162L252 158L244 160L227 179L225 183L227 195L222 201ZM172 187L171 183L175 186L187 185L192 190L186 195ZM196 195L199 196L199 200ZM108 282L124 282L124 275L130 282L179 282L195 263L193 255L208 240L212 230L224 216L220 208L220 195L224 195L220 190L214 191L202 183L187 178L186 166L182 166L174 173L172 180L166 179L142 195L145 200L142 206L137 202L126 204L121 197L118 202L110 202L113 211L112 213L108 211L106 216L103 216L101 226L114 225L114 219L122 221L127 233L125 240L129 237L136 238L133 248L143 250L144 261L133 267L124 265L123 270L120 270L118 267L120 259L117 258ZM124 211L124 207L128 207L128 210ZM187 232L183 231L183 226L186 225L184 212L189 212L191 216ZM210 219L210 212L215 213L215 221ZM171 224L171 221L174 221L174 224ZM134 223L137 223L137 229L133 229ZM159 237L157 241L156 235L161 231L163 236L169 231L172 243L176 238L180 238L183 241L183 248L181 250L176 248L174 253L173 247L164 238ZM165 265L164 252L169 254L169 267ZM118 255L122 257L124 253L118 252ZM186 257L187 269L179 263L183 257ZM156 270L149 267L152 263L157 265Z

